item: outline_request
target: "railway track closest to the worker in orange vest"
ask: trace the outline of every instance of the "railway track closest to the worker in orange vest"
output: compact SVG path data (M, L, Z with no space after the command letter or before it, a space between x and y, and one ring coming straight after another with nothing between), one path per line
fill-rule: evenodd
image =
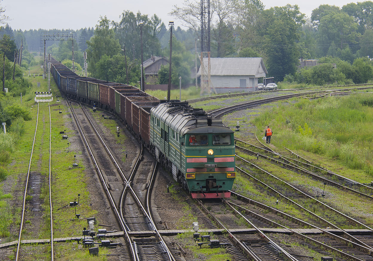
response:
M355 180L351 180L347 177L343 177L334 172L331 172L330 170L327 170L325 168L316 166L310 161L304 162L305 159L304 161L300 161L295 158L281 155L264 145L264 148L260 148L254 144L242 141L240 139L235 139L235 141L238 141L244 145L248 145L254 149L249 150L236 144L236 148L238 148L240 151L244 151L245 153L249 153L254 156L256 155L257 157L265 158L266 160L280 164L285 168L293 169L294 171L307 174L312 179L319 180L323 183L327 183L328 185L332 185L337 188L353 192L357 195L373 199L373 188L371 186L364 185Z

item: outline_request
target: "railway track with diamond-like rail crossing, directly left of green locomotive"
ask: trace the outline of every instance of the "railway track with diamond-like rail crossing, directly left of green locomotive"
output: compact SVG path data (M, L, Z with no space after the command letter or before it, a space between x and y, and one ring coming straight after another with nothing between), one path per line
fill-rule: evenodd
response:
M146 173L149 173L146 168L149 168L151 164L149 164L149 160L143 160L141 162L141 159L143 157L148 157L148 159L150 159L149 155L144 156L144 151L141 150L131 174L129 177L126 177L113 157L113 154L94 127L85 109L83 107L79 109L81 110L80 117L83 118L78 120L75 109L73 109L73 106L70 106L70 108L88 151L95 163L101 184L106 191L110 207L113 210L113 216L117 220L117 223L119 223L120 230L123 230L125 233L127 248L121 251L122 255L120 258L122 260L143 260L145 256L151 254L156 260L176 261L172 251L167 246L163 236L160 235L159 231L156 229L155 224L151 221L143 206L145 195L142 192L143 186L141 182L144 180L146 181L146 178L141 175L147 175ZM84 123L83 128L80 127L79 122ZM85 135L85 132L89 133L89 135ZM90 139L92 136L95 136L95 138L93 138L92 141L87 141L85 136L88 136ZM97 142L97 140L99 141ZM92 150L90 144L98 147ZM140 171L138 171L139 168L141 169ZM130 182L132 185L130 185ZM132 186L134 188L132 188ZM139 196L137 194L139 194ZM128 234L129 231L135 232L149 229L154 231L155 234L151 239L136 238Z

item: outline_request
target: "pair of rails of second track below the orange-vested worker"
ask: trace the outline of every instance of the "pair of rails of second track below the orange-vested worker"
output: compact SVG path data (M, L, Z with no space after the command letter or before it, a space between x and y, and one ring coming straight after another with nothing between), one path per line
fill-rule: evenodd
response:
M355 220L354 218L351 218L351 217L349 217L349 216L347 216L347 215L345 215L345 214L339 212L338 210L335 210L334 208L329 207L329 206L326 205L325 203L323 203L323 202L321 202L321 201L319 201L319 200L317 200L317 199L315 199L315 198L313 198L313 197L311 197L311 196L305 194L304 192L300 191L299 189L295 188L294 186L290 185L289 183L287 183L287 182L285 182L285 181L283 181L283 180L281 180L281 179L279 179L279 178L273 176L273 175L270 174L269 172L267 172L267 171L261 169L260 167L256 166L255 164L251 163L250 161L247 161L247 160L245 160L244 158L242 158L242 157L240 157L240 156L238 156L238 155L236 155L236 157L241 158L243 161L245 161L245 162L247 162L247 163L249 163L249 164L252 164L254 167L256 167L257 169L263 171L264 173L266 173L266 174L268 174L268 175L274 177L276 180L279 180L280 182L285 183L286 185L290 186L290 187L293 188L295 191L300 192L302 195L306 196L307 198L311 198L311 199L313 199L314 201L318 202L319 204L324 205L324 206L327 207L328 209L330 209L330 210L332 210L332 211L334 211L334 212L340 214L341 216L343 216L343 217L346 218L347 220L351 221L352 223L354 223L354 224L358 224L358 225L361 225L361 226L364 226L364 227L366 227L367 229L372 230L370 227L364 225L363 223L360 223L359 221ZM366 248L369 248L369 249L372 249L372 250L373 250L373 248L372 248L371 246L367 245L367 244L364 243L364 242L361 242L359 239L356 239L355 237L351 236L349 233L345 232L343 229L340 229L338 226L334 225L333 223L331 223L331 222L325 220L324 218L318 216L317 214L313 213L312 211L310 211L310 210L308 210L307 208L303 207L302 205L298 204L298 203L295 202L294 200L292 200L292 199L288 198L287 196L281 194L280 192L276 191L276 189L273 189L272 187L270 187L270 186L267 185L266 183L262 182L261 180L257 179L256 177L252 176L251 174L245 172L245 171L242 170L241 168L239 168L239 167L236 166L236 169L239 169L242 173L245 173L245 174L247 174L248 176L250 176L251 178L257 180L257 182L259 182L259 183L261 183L262 185L266 186L267 188L271 189L273 192L275 192L276 194L282 196L282 197L285 198L286 200L288 200L288 201L292 202L293 204L297 205L298 207L300 207L300 208L303 209L304 211L307 211L308 213L310 213L310 214L313 215L314 217L319 218L319 220L322 220L322 221L324 221L325 223L329 224L329 226L334 227L335 229L338 229L338 230L342 231L342 232L344 233L344 235L346 235L348 238L352 239L354 242L358 242L360 245L365 246Z

